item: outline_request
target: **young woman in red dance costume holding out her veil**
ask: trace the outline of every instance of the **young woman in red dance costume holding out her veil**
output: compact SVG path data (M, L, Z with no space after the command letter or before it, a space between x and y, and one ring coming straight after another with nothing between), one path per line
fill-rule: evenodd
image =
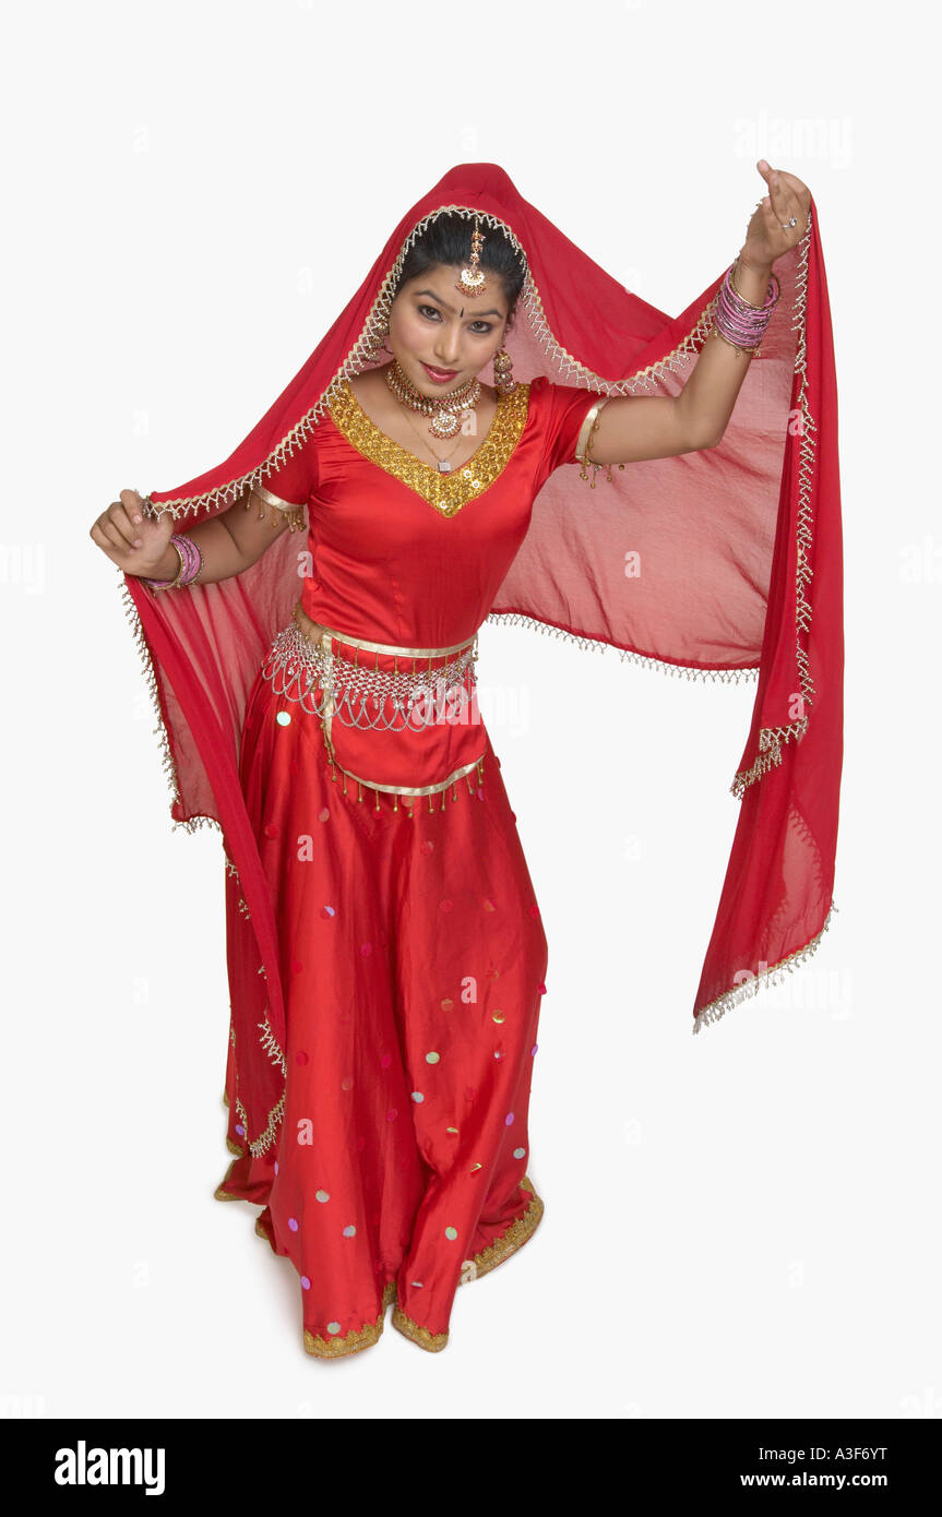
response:
M225 464L123 490L91 529L123 570L173 818L223 833L217 1195L262 1208L316 1356L376 1343L390 1302L443 1349L458 1285L543 1212L548 944L475 699L485 619L758 677L695 1029L827 927L833 353L812 197L758 171L736 262L669 322L502 170L452 170Z

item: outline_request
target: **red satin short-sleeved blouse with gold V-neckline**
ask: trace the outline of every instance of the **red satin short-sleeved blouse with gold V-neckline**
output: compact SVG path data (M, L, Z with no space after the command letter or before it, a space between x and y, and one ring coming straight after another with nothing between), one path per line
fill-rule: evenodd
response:
M393 441L344 382L306 444L264 485L282 505L308 507L299 552L300 605L311 620L394 648L469 643L523 542L532 502L560 464L575 463L589 390L543 375L499 396L490 431L452 473ZM410 660L332 643L334 652L402 672ZM452 655L454 657L454 655ZM429 661L429 680L447 655ZM411 660L422 671L423 660ZM460 716L429 702L417 728L364 730L331 718L337 765L364 784L443 786L484 754L473 698Z

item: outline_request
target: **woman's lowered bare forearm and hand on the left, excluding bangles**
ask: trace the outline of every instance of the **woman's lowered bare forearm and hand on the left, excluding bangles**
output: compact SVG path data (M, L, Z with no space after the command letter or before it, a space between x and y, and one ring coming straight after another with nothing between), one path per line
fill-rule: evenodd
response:
M290 513L278 510L255 490L240 496L211 522L199 522L187 536L203 555L196 579L214 584L229 579L256 563L276 537L288 529ZM137 490L121 490L94 522L89 537L126 573L147 579L173 579L181 566L170 537L176 523L170 511L156 519L144 517ZM296 508L297 510L297 508Z

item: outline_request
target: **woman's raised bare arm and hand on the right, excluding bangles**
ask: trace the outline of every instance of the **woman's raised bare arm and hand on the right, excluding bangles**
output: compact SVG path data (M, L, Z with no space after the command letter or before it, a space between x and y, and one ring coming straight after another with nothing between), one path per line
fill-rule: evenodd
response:
M765 170L761 168L765 164ZM775 174L760 159L769 196L749 223L733 279L743 300L763 305L775 258L805 232L810 193L793 174ZM795 217L793 228L781 223ZM617 396L605 400L592 438L592 463L637 463L716 448L728 426L736 397L749 370L748 353L713 329L678 396Z

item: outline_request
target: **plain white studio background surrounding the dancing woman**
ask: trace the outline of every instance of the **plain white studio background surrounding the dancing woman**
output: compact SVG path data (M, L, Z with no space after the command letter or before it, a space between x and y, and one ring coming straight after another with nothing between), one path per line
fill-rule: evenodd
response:
M942 1411L924 14L5 8L8 1415ZM834 320L839 913L805 968L692 1038L754 686L485 627L484 713L549 938L528 1167L546 1215L458 1291L441 1355L387 1318L375 1349L317 1361L256 1209L212 1198L220 836L170 828L91 522L225 458L454 164L502 164L677 314L742 246L760 156L815 194ZM552 708L573 681L592 752Z

